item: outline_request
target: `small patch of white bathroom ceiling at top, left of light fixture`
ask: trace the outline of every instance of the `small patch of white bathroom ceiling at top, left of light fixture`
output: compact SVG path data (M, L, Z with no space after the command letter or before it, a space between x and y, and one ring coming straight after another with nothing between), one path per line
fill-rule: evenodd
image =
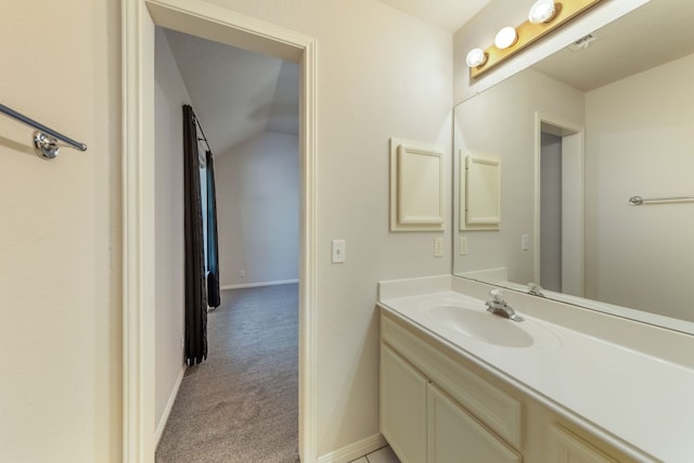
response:
M397 10L441 27L460 29L491 0L380 0Z

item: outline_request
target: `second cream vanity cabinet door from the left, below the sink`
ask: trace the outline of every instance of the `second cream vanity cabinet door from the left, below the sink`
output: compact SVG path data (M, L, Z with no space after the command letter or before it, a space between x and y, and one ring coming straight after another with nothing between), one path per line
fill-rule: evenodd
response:
M433 385L428 387L428 463L522 461L518 453Z

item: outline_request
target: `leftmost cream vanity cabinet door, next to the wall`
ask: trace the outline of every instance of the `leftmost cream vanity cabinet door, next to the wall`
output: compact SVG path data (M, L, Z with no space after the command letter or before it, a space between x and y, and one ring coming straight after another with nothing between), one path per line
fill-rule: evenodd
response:
M402 463L426 461L427 380L381 345L381 434Z

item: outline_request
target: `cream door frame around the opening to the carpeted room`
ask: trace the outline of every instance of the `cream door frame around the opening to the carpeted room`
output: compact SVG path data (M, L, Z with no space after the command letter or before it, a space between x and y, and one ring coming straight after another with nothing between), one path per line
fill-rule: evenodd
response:
M299 454L317 429L317 51L312 37L201 0L121 7L123 461L154 461L154 28L163 26L299 64Z

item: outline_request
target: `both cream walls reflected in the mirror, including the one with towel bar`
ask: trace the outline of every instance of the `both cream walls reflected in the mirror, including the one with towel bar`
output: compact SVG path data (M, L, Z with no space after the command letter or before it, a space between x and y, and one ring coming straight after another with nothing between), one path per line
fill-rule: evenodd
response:
M502 222L499 231L458 231L454 272L517 288L539 282L537 115L543 114L584 128L584 284L565 293L694 321L687 287L694 203L628 203L637 194L694 194L693 81L694 55L589 91L529 68L460 104L454 160L465 152L502 159Z

